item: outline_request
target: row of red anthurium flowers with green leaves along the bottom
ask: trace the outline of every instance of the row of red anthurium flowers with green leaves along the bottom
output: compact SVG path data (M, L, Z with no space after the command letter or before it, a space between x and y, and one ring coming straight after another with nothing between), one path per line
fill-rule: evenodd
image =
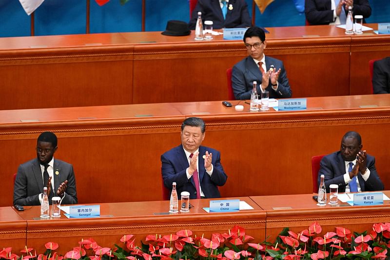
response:
M135 245L134 235L124 235L115 249L101 247L91 239L81 240L78 246L60 256L58 243L45 244L46 252L37 255L27 246L18 256L12 248L0 251L0 259L7 260L304 260L304 259L387 259L390 256L390 223L372 225L370 232L351 233L343 227L336 232L322 232L318 222L308 229L294 233L285 228L274 243L250 243L254 238L235 225L228 233L212 234L210 239L193 236L190 230L170 235L149 235L141 247Z

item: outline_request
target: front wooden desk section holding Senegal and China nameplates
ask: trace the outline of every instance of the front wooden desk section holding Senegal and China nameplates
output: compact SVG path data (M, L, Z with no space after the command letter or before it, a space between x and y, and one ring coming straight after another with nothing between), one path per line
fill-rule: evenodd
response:
M100 205L100 218L96 219L60 219L40 220L39 206L34 206L20 217L27 220L27 244L44 251L44 244L49 241L59 243L58 252L65 254L81 239L93 238L98 245L114 247L114 243L124 235L135 235L137 244L145 242L147 235L176 234L182 229L189 229L197 236L211 238L213 233L227 233L234 225L240 225L255 238L254 242L265 239L266 213L249 198L245 200L254 210L234 213L208 214L202 207L209 206L209 200L191 200L194 208L190 213L169 214L169 201L103 203ZM62 212L61 212L62 214ZM37 218L38 216L38 218Z

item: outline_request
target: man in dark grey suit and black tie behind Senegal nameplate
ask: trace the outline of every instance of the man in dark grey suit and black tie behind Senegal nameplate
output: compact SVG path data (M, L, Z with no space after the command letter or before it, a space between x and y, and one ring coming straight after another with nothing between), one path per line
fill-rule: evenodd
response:
M43 132L37 140L37 158L20 164L14 183L14 205L40 205L43 187L49 203L60 197L61 204L76 204L76 179L72 164L54 159L57 136Z

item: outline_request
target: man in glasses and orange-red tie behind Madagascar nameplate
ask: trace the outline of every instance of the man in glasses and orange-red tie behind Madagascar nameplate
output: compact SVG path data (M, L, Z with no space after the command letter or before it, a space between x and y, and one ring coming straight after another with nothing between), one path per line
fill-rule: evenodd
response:
M235 64L232 71L235 99L251 99L253 81L257 82L257 93L269 91L270 98L290 98L292 91L283 62L264 55L264 30L257 26L248 28L244 43L249 56Z

